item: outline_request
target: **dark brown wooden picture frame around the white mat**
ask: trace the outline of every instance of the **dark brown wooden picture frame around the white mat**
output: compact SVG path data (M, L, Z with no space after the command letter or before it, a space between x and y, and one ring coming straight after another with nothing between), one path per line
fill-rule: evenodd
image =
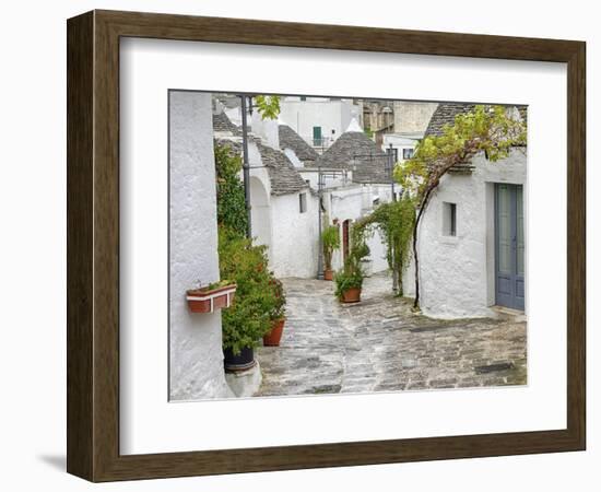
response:
M92 481L585 449L582 42L93 11L68 33L67 469ZM153 455L119 454L119 39L146 37L567 63L567 427Z

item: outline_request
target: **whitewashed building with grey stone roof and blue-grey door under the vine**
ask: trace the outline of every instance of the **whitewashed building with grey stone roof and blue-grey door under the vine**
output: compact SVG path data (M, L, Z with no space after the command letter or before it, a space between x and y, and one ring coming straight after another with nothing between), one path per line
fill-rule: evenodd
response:
M469 104L439 104L426 136L440 134ZM526 109L509 108L517 118ZM527 152L493 163L483 154L451 169L435 191L419 233L421 307L443 318L480 317L492 306L527 311ZM414 267L404 276L414 295Z

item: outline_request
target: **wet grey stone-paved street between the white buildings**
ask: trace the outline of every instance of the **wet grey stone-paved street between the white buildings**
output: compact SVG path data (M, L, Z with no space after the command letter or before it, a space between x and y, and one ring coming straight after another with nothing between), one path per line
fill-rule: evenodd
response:
M436 320L393 297L390 278L365 279L362 302L342 305L333 282L285 279L280 347L261 347L256 396L392 391L526 384L526 320Z

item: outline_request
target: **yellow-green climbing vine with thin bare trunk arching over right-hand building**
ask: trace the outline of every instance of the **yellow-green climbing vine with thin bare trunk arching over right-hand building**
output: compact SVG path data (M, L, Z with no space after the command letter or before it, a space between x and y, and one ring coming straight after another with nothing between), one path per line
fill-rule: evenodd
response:
M441 136L429 136L415 148L413 157L394 168L394 178L414 200L417 214L413 224L412 246L415 262L415 302L420 308L420 258L417 234L422 218L440 179L453 166L479 152L490 162L509 155L511 148L526 147L527 128L503 106L475 106L471 113L456 116L453 125L445 125Z

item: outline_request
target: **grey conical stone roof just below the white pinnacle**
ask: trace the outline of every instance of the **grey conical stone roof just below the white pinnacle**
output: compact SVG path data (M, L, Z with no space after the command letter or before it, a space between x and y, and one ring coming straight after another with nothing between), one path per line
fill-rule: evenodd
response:
M386 153L363 131L342 133L315 166L352 171L355 183L390 183Z

